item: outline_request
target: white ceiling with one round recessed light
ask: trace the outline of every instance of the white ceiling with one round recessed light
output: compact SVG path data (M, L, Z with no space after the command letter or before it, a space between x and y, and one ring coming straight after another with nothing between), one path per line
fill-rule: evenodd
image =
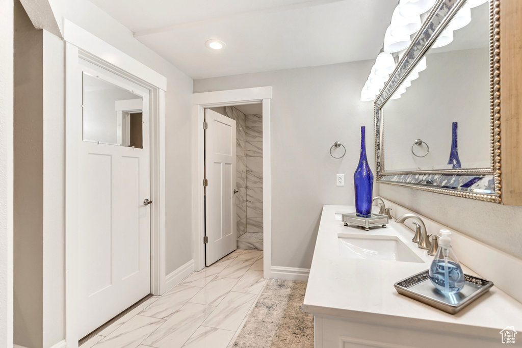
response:
M193 79L374 59L396 0L90 0ZM225 42L210 50L205 42Z

